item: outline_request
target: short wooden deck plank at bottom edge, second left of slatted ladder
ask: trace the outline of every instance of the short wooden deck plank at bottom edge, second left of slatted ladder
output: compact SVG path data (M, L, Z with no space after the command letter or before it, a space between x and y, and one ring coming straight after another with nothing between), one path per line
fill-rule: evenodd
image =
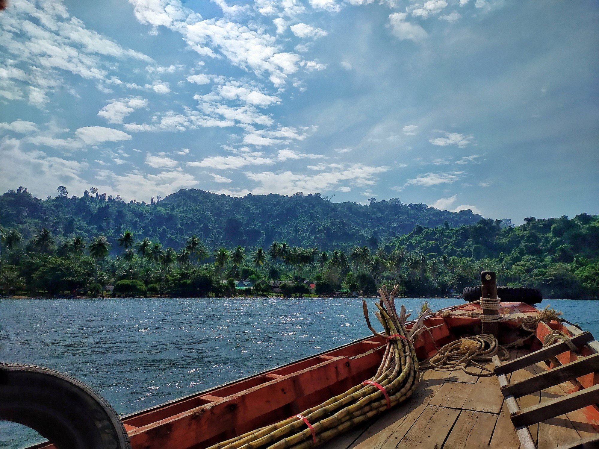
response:
M443 449L488 448L497 418L491 413L462 410Z

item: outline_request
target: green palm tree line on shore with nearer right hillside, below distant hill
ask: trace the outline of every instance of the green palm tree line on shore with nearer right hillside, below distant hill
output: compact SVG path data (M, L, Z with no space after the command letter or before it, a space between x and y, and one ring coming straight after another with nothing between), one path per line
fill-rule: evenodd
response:
M446 296L479 283L480 271L498 273L500 284L539 288L546 298L599 295L599 217L535 219L505 226L482 219L476 225L425 227L370 245L320 250L273 241L267 247L209 248L197 235L178 249L159 239L137 239L126 230L113 242L54 236L43 227L26 239L16 227L2 229L0 286L4 293L97 295L114 286L119 295L207 296L235 294L235 280L249 280L253 293L286 295L346 290L373 295L383 283L405 296Z

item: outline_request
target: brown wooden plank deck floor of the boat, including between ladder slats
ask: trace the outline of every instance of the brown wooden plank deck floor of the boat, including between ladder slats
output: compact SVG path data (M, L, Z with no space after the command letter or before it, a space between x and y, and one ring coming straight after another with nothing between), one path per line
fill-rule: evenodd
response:
M529 350L512 350L510 359ZM488 365L492 369L492 364ZM521 381L547 369L544 362L508 375ZM563 396L571 386L560 384L518 399L520 408ZM537 448L553 449L599 432L588 423L584 409L529 427ZM422 372L413 397L375 420L323 445L325 449L474 449L518 448L520 442L495 375L475 377L461 368L452 372Z

